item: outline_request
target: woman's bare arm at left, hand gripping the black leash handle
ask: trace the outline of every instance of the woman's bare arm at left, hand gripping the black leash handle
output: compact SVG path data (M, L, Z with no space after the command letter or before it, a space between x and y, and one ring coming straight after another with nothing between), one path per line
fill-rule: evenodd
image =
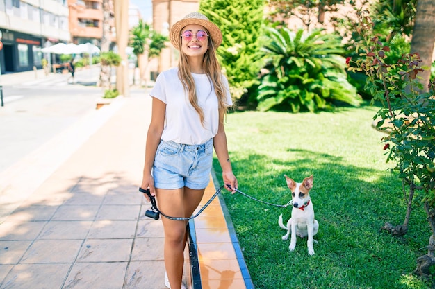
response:
M157 98L153 98L151 123L149 124L147 144L145 147L145 165L143 169L142 184L140 185L143 189L147 189L149 187L149 192L151 195L156 195L154 189L154 179L151 176L151 169L154 164L157 147L160 143L165 125L165 111L166 104ZM148 198L147 195L145 195L145 198Z

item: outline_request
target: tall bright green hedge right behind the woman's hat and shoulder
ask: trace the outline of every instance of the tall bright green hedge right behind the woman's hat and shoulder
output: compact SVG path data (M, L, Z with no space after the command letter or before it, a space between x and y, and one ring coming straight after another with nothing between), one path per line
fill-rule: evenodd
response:
M217 57L227 75L231 96L239 100L258 84L263 0L201 1L200 11L222 30L223 42Z

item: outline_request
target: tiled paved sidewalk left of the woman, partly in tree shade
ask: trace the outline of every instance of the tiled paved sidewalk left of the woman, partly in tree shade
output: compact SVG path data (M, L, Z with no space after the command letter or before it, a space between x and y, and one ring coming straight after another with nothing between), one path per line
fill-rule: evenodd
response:
M0 288L165 288L138 193L150 111L120 97L0 175Z

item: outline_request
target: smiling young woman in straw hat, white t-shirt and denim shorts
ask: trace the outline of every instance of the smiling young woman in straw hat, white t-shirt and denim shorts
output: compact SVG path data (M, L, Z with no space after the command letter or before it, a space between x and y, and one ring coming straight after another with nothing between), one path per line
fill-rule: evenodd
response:
M238 187L224 130L224 115L232 101L215 55L222 43L215 24L198 12L190 13L172 26L170 41L179 50L179 64L161 73L150 92L152 116L141 187L149 188L167 216L188 218L210 180L213 147L227 190ZM186 221L162 217L162 222L165 286L184 288Z

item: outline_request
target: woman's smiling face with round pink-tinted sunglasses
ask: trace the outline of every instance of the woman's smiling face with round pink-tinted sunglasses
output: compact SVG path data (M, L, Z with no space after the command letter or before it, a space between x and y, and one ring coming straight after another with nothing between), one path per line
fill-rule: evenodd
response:
M181 30L181 51L190 57L204 56L208 49L208 33L197 24L190 24Z

